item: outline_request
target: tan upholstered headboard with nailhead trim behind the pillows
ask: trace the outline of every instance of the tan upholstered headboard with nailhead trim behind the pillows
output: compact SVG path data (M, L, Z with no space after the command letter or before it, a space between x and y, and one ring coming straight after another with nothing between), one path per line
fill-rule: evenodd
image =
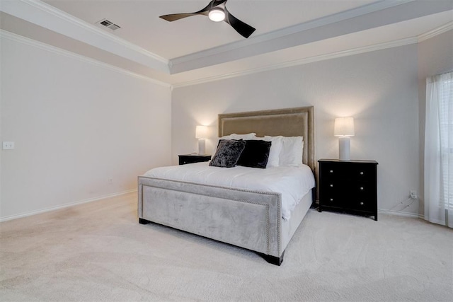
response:
M313 106L226 113L219 115L219 137L255 132L257 137L304 137L302 163L314 171L314 110Z

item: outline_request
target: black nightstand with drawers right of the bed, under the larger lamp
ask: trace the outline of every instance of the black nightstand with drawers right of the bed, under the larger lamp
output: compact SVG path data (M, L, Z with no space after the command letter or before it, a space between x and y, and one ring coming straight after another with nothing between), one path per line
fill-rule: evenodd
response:
M319 161L319 211L374 216L377 221L377 161Z

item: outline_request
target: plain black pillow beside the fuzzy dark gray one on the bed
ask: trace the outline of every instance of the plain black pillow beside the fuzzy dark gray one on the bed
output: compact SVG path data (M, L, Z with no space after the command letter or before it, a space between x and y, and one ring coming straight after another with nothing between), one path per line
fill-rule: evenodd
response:
M237 165L244 167L265 169L268 164L270 141L250 140L245 141L246 148L243 149Z

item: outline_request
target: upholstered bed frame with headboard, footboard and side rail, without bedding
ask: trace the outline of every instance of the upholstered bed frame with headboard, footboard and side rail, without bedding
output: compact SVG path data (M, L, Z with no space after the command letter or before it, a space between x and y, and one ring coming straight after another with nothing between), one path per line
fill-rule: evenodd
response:
M219 137L248 133L256 133L256 137L303 137L302 162L314 175L312 106L220 114L218 127ZM153 175L146 173L138 178L139 223L159 223L246 248L275 265L281 265L289 240L315 197L315 189L309 189L291 210L290 218L284 219L281 192Z

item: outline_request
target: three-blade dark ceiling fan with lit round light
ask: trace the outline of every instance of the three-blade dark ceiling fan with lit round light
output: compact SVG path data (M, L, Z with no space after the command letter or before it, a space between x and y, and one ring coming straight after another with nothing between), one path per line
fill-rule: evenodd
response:
M212 0L205 8L200 11L195 11L195 13L172 13L170 15L159 16L159 18L171 22L196 15L208 16L210 20L214 22L225 21L243 37L250 37L255 31L255 28L231 15L225 7L226 1L228 0Z

